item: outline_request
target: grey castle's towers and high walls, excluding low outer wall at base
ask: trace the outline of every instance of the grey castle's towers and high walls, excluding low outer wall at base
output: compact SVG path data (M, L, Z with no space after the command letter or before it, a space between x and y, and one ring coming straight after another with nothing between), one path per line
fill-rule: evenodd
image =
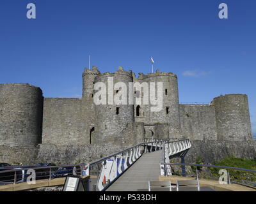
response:
M95 105L93 85L114 82L163 82L163 109L150 105ZM198 90L200 91L200 90ZM116 94L118 91L114 91ZM143 90L134 92L143 97ZM0 85L0 145L133 145L144 138L252 140L248 99L244 94L214 98L209 105L181 105L177 76L156 71L138 78L119 67L115 73L85 69L82 98L44 98L28 84Z

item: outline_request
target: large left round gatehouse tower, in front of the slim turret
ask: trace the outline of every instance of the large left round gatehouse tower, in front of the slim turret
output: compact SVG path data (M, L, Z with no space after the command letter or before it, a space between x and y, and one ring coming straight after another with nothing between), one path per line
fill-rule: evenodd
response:
M118 133L127 126L128 122L134 121L134 106L128 104L129 91L127 90L129 82L132 81L132 72L124 71L122 67L119 67L115 73L107 72L95 77L95 84L103 82L106 85L107 102L106 105L95 105L97 121L95 126L95 142L102 143L113 140L111 136L118 136ZM122 87L115 87L115 84L118 82L122 82L125 85L126 90L124 92ZM116 104L115 97L120 96L122 93L124 93L127 99L126 103Z

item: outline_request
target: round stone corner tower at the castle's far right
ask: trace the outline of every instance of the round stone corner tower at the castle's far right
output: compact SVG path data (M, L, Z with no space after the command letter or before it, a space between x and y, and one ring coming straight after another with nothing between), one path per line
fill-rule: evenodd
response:
M248 98L227 94L214 98L218 140L252 140Z

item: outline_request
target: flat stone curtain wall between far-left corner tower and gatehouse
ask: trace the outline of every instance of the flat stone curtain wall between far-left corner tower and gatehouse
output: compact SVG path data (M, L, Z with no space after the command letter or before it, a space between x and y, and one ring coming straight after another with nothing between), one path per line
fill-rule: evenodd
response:
M81 99L44 98L42 143L55 145L86 143L82 123Z

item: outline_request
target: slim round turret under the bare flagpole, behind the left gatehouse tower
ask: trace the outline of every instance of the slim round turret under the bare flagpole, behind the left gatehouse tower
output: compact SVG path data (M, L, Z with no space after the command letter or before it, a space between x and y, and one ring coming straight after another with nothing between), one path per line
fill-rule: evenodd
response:
M85 68L83 73L83 97L91 97L93 94L93 84L95 77L99 76L100 72L96 66L92 69Z

